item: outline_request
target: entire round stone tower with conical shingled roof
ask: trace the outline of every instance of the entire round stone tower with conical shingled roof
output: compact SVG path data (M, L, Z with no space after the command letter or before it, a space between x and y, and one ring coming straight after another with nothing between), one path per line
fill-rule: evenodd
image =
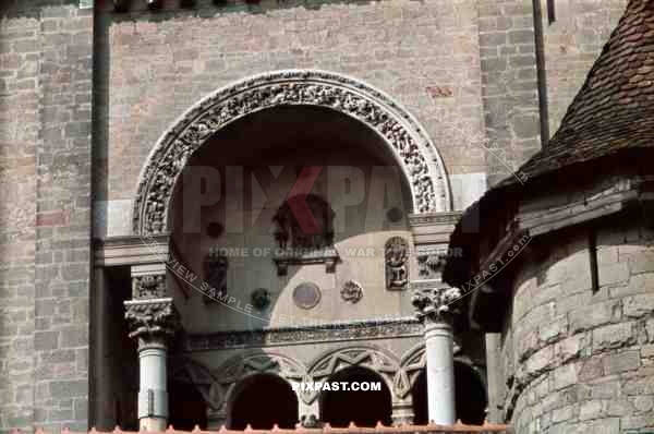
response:
M654 3L638 0L554 137L450 240L491 414L517 433L654 429L652 161Z

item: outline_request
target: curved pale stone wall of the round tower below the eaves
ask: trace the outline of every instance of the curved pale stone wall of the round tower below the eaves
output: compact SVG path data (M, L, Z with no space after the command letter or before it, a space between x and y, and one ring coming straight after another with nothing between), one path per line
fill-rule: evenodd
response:
M517 278L502 345L512 424L521 434L651 430L654 232L598 231L595 293L588 238L562 239Z

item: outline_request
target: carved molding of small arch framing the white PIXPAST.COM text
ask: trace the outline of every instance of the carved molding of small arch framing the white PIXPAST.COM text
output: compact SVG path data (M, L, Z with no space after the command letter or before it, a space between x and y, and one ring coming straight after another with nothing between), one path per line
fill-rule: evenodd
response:
M393 354L373 346L346 347L327 351L310 365L307 377L311 382L324 382L350 366L366 367L376 372L395 395L393 378L400 369L399 361ZM304 402L311 403L318 395L317 391L306 391L301 396Z

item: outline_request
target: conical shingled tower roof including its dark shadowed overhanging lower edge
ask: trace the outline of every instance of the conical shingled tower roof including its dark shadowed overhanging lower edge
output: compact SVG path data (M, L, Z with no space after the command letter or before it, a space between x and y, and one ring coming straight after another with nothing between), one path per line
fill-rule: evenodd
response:
M654 152L654 0L631 0L559 130L517 171L526 178L524 184L519 177L508 177L465 210L450 238L450 248L463 246L468 253L448 258L444 279L460 284L476 261L480 234L465 233L465 221L482 218L488 224L497 204L506 207L514 202L510 197L525 196L544 180L557 177L565 183L566 172L580 168L590 168L586 170L596 177L601 170L593 170L594 164L602 161L606 167L607 160L616 161L614 156L633 158L634 153L643 152Z

